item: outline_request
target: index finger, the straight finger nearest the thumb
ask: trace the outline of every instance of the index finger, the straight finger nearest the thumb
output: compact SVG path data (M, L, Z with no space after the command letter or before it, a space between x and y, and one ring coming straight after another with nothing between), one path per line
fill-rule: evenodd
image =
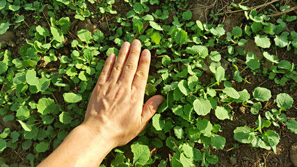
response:
M132 88L140 90L140 92L145 92L145 86L147 84L147 77L150 70L150 51L145 49L141 54L141 59L139 61L136 74L134 76L134 81L132 83Z

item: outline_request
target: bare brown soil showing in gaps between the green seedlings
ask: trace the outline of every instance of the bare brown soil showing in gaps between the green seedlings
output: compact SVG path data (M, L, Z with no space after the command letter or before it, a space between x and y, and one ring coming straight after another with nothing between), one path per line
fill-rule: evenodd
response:
M125 16L126 13L132 8L129 5L123 8L123 6L121 5L122 2L123 0L121 0L120 2L117 2L117 4L115 4L113 7L115 10L118 11L118 13L120 13L120 15ZM232 1L188 0L188 9L195 10L195 7L197 6L210 6L210 7L204 8L204 10L202 11L198 11L198 13L207 14L205 22L213 23L213 24L224 24L224 22L231 22L232 23L231 26L243 26L244 22L241 22L241 21L243 20L244 16L242 15L242 13L228 13L225 16L219 16L217 21L209 16L209 13L211 12L217 13L218 11L217 9L221 9L220 12L222 13L227 12L227 6L230 6L231 2ZM240 2L241 0L234 1L234 3L240 3ZM252 6L261 5L263 3L264 1L250 0L247 3L243 2L243 5L252 7ZM96 6L97 6L96 3L93 5L88 4L88 6L90 6L90 12L93 12L93 13L96 12ZM151 9L150 12L154 12L159 8L161 8L161 5L150 6L150 9ZM267 8L272 8L272 7L267 6ZM175 8L175 12L182 12L182 11L184 10ZM36 22L32 17L32 15L35 15L33 12L22 11L22 15L25 16L25 21L30 26L38 26L38 25L47 26L47 19L45 19L45 17L42 17L42 19L40 19L40 22ZM73 23L76 23L72 25L72 29L70 30L70 32L73 35L77 35L77 31L79 31L79 29L83 29L79 25L80 21L77 22L74 19L74 15L71 15L71 14L68 15L67 13L62 12L59 14L59 17L70 17L70 20ZM113 19L115 19L115 17L116 15L109 15L106 18L102 18L102 17L99 18L97 17L97 15L95 15L93 19L85 21L83 22L83 24L87 23L87 25L85 25L86 26L85 29L90 29L90 31L93 31L93 32L97 29L100 29L102 32L104 32L105 35L109 35L109 29L104 29L106 27L102 27L100 25L103 25L102 23L106 22L106 20L108 22L113 22ZM90 26L90 24L92 25ZM107 25L107 24L104 24L104 25ZM289 26L289 29L296 29L296 25L297 25L296 23L291 23L288 26ZM230 27L229 28L227 27L226 30L229 31ZM10 29L9 31L13 32L15 35L8 35L6 36L5 40L2 40L2 41L7 42L7 44L9 42L10 43L15 42L16 44L15 46L8 45L6 49L10 50L14 57L19 57L19 48L26 44L25 39L29 39L29 40L32 39L32 37L29 36L29 28L26 26L19 26L17 29ZM66 47L71 48L70 46L71 41L74 40L74 38L72 37L72 35L69 35L69 34L67 34L66 36L70 40L70 42L68 42L68 45L66 45ZM3 47L1 49L3 49ZM277 52L278 58L280 58L281 60L284 59L284 60L293 62L294 64L297 64L296 55L294 54L294 51L286 51L286 49L278 49L277 51L278 51ZM69 56L69 54L63 54L63 55ZM243 61L245 61L244 57L243 57ZM156 59L152 61L152 63L154 62L156 62ZM244 68L244 65L240 63L236 65L238 65L239 68L241 69ZM49 63L44 68L52 68L52 67L58 67L58 66L59 64ZM152 74L153 72L156 72L156 69L154 68L151 69L150 73ZM234 73L234 68L230 65L226 74L232 75L233 73ZM233 86L234 88L236 88L236 90L247 89L248 92L252 94L252 90L254 90L254 88L256 88L257 86L261 86L271 90L271 94L273 96L272 99L274 100L276 98L276 95L278 95L278 93L288 93L289 95L291 95L291 97L294 98L294 104L293 104L294 107L286 111L287 117L293 118L293 119L297 118L297 109L296 109L297 90L296 90L296 86L293 88L293 90L290 90L291 84L294 84L292 83L292 81L291 83L287 83L286 86L280 86L275 84L274 81L268 79L267 76L256 77L254 74L252 74L252 72L250 72L250 70L245 70L243 73L241 73L241 75L243 78L247 79L252 84L248 84L245 82L242 82L242 83L233 82L234 84ZM211 76L209 74L207 74L206 72L203 72L202 76L199 77L199 80L202 81L202 84L207 85L210 83L210 78ZM63 92L54 93L54 97L59 102L59 104L61 104L61 102L64 102L62 95L63 95ZM40 97L42 97L41 94L34 95L33 100L35 102L38 102ZM49 97L52 97L52 96L49 95ZM264 105L265 104L262 104L262 106ZM66 104L62 104L63 109L66 109L66 107L67 107ZM273 107L276 107L276 105L273 104L271 106L268 106L268 109L272 109ZM211 113L209 116L211 122L213 123L220 124L222 122L222 124L220 125L223 129L223 132L220 132L220 135L226 138L226 145L223 150L211 150L212 154L217 154L219 157L218 164L214 166L259 166L259 165L293 166L293 164L289 159L289 148L293 143L297 142L296 134L289 132L289 130L284 124L280 124L280 128L272 128L276 132L278 132L278 134L280 134L280 138L281 138L280 143L277 146L276 154L272 150L264 150L261 148L251 148L247 144L239 143L238 141L234 140L233 131L238 126L243 126L243 125L248 125L250 127L254 126L255 121L257 120L257 116L252 115L249 109L246 109L244 106L241 106L241 104L232 104L231 108L232 108L232 115L234 120L224 120L224 121L218 120L216 116L214 116L214 113ZM260 113L264 113L264 111L260 111ZM134 139L134 141L135 140L136 139ZM234 145L239 145L239 147L234 148ZM19 159L19 156L25 158L26 154L28 154L29 152L33 152L33 150L26 150L26 152L20 151L20 152L17 152L17 154L15 154L13 150L9 150L9 151L6 151L4 154L7 154L7 156L9 155L9 157L11 157L11 158L8 158L10 159L11 164L15 164L15 163L24 164L24 161L22 161L22 159ZM44 154L44 157L46 157L47 154L49 153L50 152L46 152ZM159 150L156 150L156 153L160 154L161 157L163 157L163 159L168 159L168 154L172 155L172 152L169 149L159 149ZM111 157L112 156L110 156L107 161L111 161L112 160ZM131 157L131 156L127 154L127 157ZM38 162L36 161L36 163ZM154 166L157 166L156 164L157 163L155 163Z

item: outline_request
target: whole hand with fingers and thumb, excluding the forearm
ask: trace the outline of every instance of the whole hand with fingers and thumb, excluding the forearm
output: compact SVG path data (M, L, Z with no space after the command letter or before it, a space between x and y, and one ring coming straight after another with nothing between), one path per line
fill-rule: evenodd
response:
M131 46L124 42L116 60L115 54L109 55L82 124L114 147L136 137L163 101L155 95L143 106L151 54L147 49L140 54L141 42L134 40Z

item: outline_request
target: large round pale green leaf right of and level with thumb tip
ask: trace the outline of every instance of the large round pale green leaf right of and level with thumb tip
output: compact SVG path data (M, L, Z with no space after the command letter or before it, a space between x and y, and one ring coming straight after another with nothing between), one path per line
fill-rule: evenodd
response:
M204 100L202 97L199 97L193 102L194 110L200 116L206 116L207 113L211 110L211 104L209 100Z

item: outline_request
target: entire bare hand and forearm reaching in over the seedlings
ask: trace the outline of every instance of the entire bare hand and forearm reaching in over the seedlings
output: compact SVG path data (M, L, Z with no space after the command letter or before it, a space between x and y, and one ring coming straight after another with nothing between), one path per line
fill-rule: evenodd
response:
M141 54L141 56L140 56ZM99 166L115 147L136 137L152 118L161 95L143 105L150 69L150 51L141 42L125 42L115 60L106 59L90 97L85 120L38 167Z

